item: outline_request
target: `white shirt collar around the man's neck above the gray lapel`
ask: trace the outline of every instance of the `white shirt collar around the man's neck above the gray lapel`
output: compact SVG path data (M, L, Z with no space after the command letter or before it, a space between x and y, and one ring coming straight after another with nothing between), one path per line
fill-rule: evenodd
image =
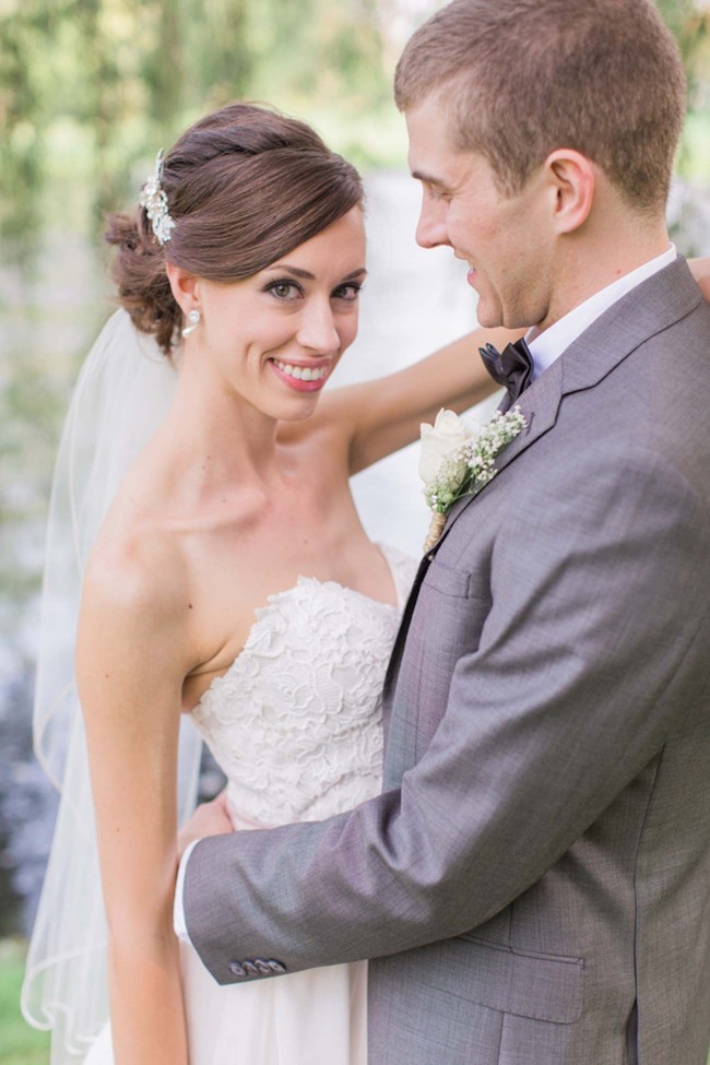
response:
M555 359L559 358L563 352L578 336L581 336L584 330L603 315L605 310L608 310L613 304L620 299L622 296L631 292L632 288L640 285L647 277L651 277L660 270L670 265L676 258L677 251L675 250L675 245L672 244L667 251L642 263L636 270L631 270L630 273L624 274L623 277L607 285L606 288L594 293L583 304L575 307L568 315L565 315L554 326L551 326L549 329L539 333L533 326L532 329L528 330L525 340L530 346L530 353L534 363L532 380L534 381L541 374L548 369Z

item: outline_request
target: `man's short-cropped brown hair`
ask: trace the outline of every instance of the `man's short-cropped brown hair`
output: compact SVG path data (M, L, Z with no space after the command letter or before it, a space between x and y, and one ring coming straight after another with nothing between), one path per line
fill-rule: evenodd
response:
M593 159L639 209L665 203L686 83L651 0L453 0L411 38L394 96L441 92L452 146L514 196L555 149Z

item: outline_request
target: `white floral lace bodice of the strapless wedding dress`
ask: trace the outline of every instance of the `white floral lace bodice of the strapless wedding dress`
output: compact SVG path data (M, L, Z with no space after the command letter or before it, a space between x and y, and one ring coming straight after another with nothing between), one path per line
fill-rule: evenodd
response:
M382 551L398 607L300 577L257 611L244 650L192 711L239 824L315 820L379 792L382 685L416 569Z

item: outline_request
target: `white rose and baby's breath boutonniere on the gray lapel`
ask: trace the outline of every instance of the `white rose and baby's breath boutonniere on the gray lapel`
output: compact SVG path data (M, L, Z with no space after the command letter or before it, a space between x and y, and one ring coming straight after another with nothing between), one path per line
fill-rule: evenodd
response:
M496 411L485 425L460 418L453 411L439 411L434 425L422 425L419 476L431 511L425 552L438 543L457 499L475 496L495 477L496 455L526 425L519 406L506 414Z

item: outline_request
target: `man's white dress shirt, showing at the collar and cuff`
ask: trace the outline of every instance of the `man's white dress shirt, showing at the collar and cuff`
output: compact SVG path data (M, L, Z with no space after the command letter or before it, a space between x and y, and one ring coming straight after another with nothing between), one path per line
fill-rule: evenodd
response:
M656 256L655 259L651 259L649 262L644 262L641 267L632 270L630 273L625 274L619 277L618 281L613 282L613 284L607 285L606 288L602 288L600 292L594 293L589 299L585 299L583 304L575 307L570 310L568 315L556 321L554 326L546 329L544 332L539 333L537 330L529 330L525 334L525 340L530 345L530 352L533 357L534 369L532 375L532 380L534 381L541 374L543 374L552 364L558 358L563 352L569 347L572 341L577 340L578 336L584 332L584 330L592 324L595 319L603 315L605 310L625 296L637 285L640 285L642 281L647 277L651 277L654 273L663 270L664 267L670 265L673 260L677 257L675 246L671 245L667 251L663 255ZM173 924L175 927L175 933L178 938L182 939L185 943L190 943L190 936L188 935L187 921L185 919L185 907L182 902L182 895L185 889L185 873L187 868L187 863L190 860L190 854L193 848L199 842L196 840L193 843L187 848L185 854L180 860L180 866L178 868L177 883L175 885L175 904L173 909Z

